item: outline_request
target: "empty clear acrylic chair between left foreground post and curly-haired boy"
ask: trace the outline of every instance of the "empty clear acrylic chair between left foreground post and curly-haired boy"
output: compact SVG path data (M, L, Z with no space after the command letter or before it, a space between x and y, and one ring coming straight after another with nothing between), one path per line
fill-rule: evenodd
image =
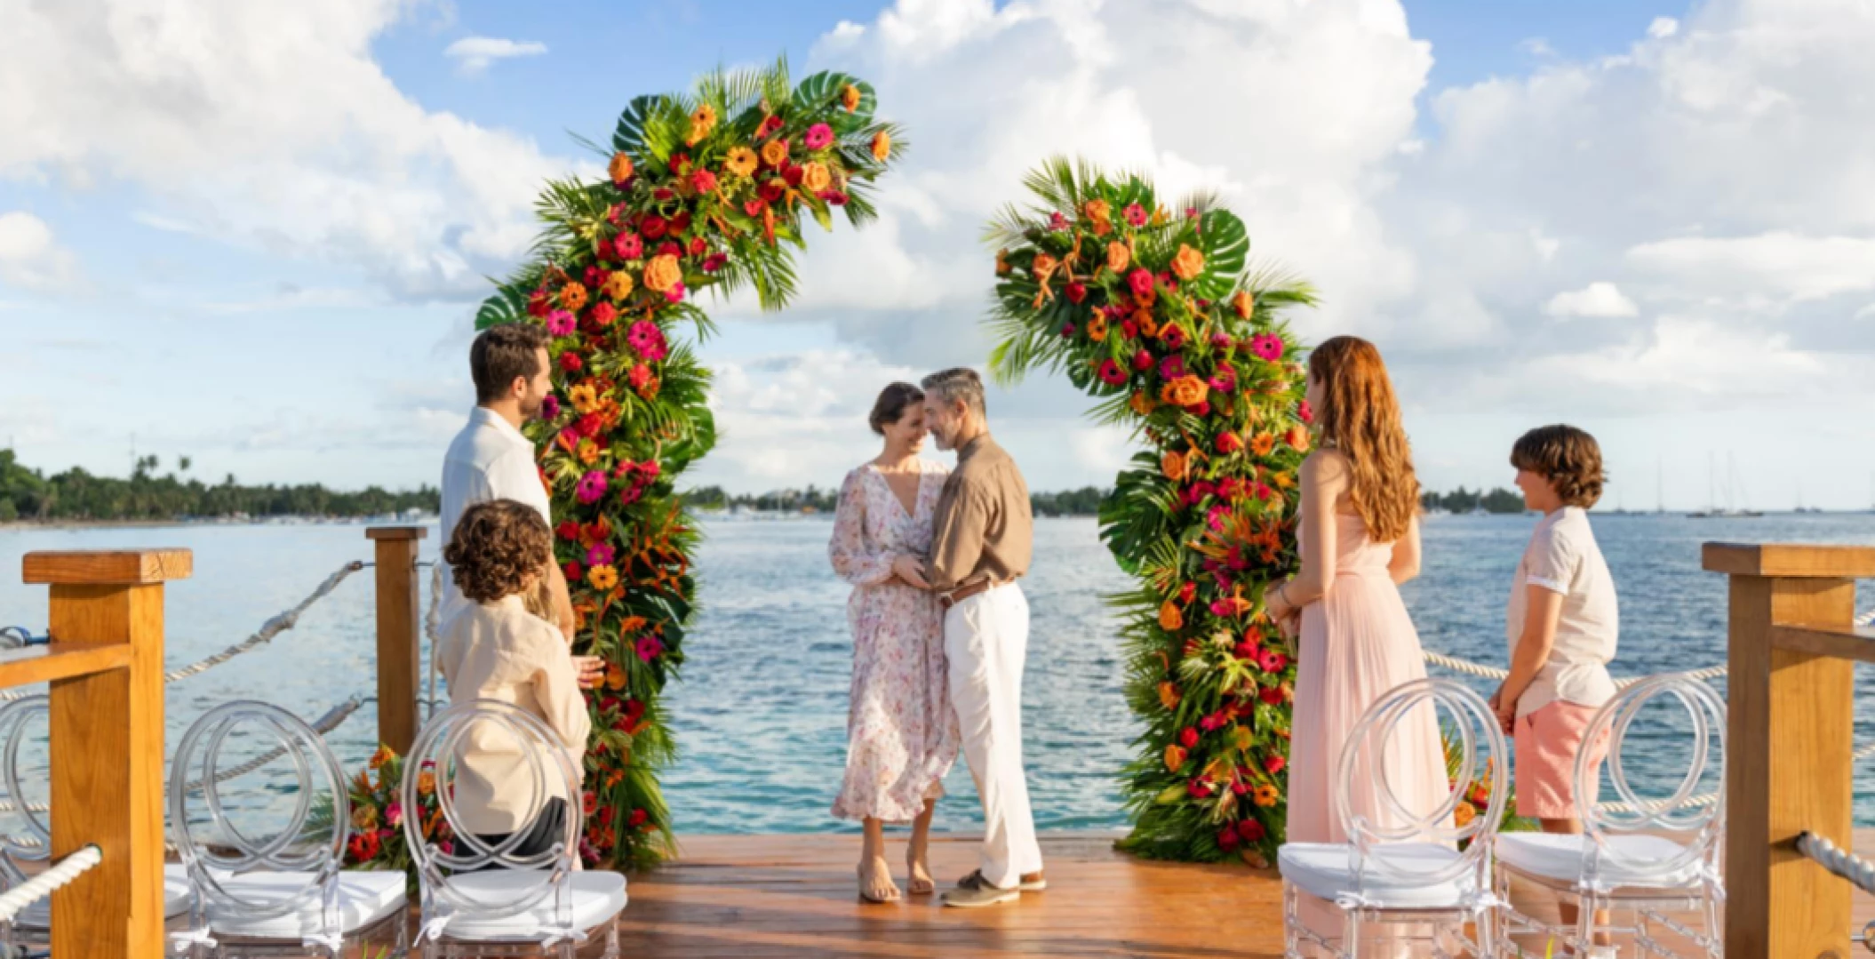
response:
M255 820L279 816L221 796L223 781L255 771L268 777L266 794L292 805L264 835L249 833ZM189 726L169 771L169 833L199 895L191 931L176 936L191 959L339 959L347 944L366 940L390 940L392 955L409 951L405 875L339 871L351 837L345 773L324 738L278 706L227 702Z

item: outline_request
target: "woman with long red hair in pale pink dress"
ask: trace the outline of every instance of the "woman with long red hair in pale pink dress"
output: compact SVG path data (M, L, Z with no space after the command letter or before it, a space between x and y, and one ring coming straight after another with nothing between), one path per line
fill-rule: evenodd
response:
M1367 340L1337 336L1311 353L1309 407L1320 443L1301 465L1301 571L1268 593L1266 608L1286 631L1301 631L1286 841L1346 843L1335 801L1342 747L1369 706L1425 679L1399 591L1419 574L1419 480L1393 383ZM1408 811L1429 814L1451 796L1429 706L1402 719L1386 745L1388 783ZM1371 768L1356 775L1350 803L1376 824L1404 826L1382 803ZM1335 910L1305 906L1316 933L1339 936Z

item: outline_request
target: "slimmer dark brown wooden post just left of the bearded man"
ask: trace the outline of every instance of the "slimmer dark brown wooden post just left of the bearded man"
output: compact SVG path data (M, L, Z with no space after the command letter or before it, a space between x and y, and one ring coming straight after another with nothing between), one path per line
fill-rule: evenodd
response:
M377 542L377 739L403 756L416 741L416 544L428 529L373 525L364 535Z

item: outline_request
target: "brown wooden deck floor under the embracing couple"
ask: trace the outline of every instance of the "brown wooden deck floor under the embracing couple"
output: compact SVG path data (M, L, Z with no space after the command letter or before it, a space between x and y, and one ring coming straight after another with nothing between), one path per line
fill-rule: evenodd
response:
M894 876L904 882L904 846L892 839ZM1048 891L956 910L936 897L861 903L857 835L692 835L679 861L630 878L619 951L632 959L1282 955L1282 884L1273 871L1142 861L1114 852L1112 843L1110 833L1044 835ZM939 888L975 867L975 837L934 837ZM1858 846L1875 848L1875 833L1858 833ZM1522 891L1515 899L1554 918L1536 905L1541 899ZM1854 914L1858 927L1875 918L1875 899L1858 895ZM1541 942L1524 946L1543 953ZM581 955L598 955L598 942Z

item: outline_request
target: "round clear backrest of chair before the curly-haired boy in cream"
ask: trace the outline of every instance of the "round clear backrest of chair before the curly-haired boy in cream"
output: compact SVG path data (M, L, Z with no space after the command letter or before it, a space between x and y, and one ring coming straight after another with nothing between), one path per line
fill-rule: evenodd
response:
M467 809L458 796L458 779L484 771L489 753L499 753L504 769L502 790L525 796L525 809L510 809L514 830L501 841L488 841L472 820L488 811ZM512 766L518 764L518 766ZM518 852L529 837L529 824L546 809L553 794L568 801L562 830L551 846L531 856ZM557 927L572 921L572 871L579 854L579 769L553 728L532 713L497 700L474 700L439 711L416 734L403 766L403 835L422 886L424 921L450 914L480 920L518 916L553 897ZM454 876L482 869L521 871L499 888L456 882Z

